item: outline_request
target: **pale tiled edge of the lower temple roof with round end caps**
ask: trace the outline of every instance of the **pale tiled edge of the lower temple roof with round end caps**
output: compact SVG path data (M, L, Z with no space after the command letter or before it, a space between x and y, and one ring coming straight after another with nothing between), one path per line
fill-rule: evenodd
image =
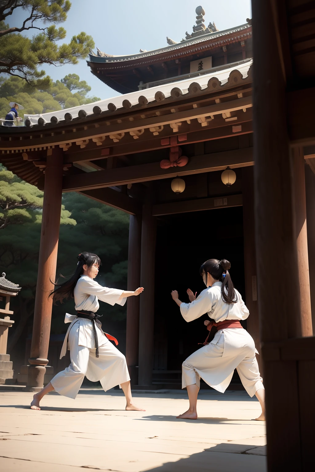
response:
M190 86L196 84L200 91L207 89L210 79L216 78L221 87L229 81L233 71L238 70L243 79L248 75L248 70L252 65L252 59L227 64L224 67L214 67L205 74L191 76L185 80L179 80L175 83L161 84L156 87L150 87L137 92L126 93L106 100L95 101L86 105L68 108L65 110L52 111L38 115L25 115L26 126L45 125L46 123L58 123L62 120L73 120L75 118L84 118L87 115L99 114L103 111L114 111L119 108L130 109L135 105L144 105L153 101L161 101L170 96L180 97L189 93ZM175 95L174 95L175 93ZM177 93L177 95L176 95ZM163 98L158 98L163 97ZM29 120L27 122L27 119Z

